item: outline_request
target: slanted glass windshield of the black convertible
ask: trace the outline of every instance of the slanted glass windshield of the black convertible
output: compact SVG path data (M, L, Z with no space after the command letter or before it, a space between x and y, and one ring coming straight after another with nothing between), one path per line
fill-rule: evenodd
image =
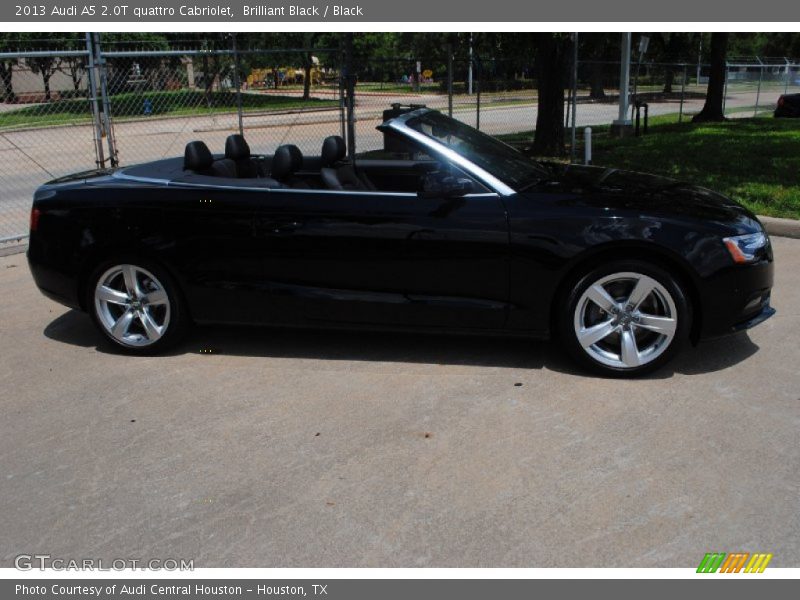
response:
M515 190L547 177L544 167L518 150L442 113L425 113L406 124L458 152Z

